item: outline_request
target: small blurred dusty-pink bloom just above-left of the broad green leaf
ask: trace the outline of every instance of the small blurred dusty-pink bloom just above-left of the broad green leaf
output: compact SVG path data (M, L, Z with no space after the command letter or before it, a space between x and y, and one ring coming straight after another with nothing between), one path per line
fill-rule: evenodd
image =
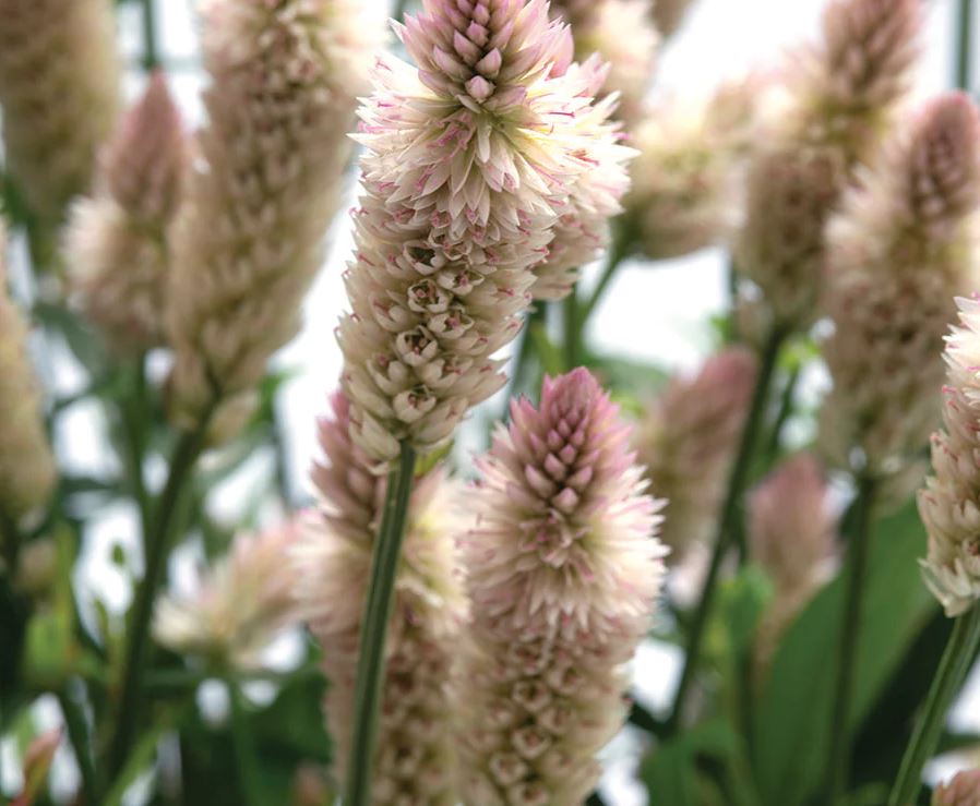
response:
M774 598L755 637L767 665L786 628L826 580L837 515L823 470L809 454L788 459L749 498L749 555L766 572Z

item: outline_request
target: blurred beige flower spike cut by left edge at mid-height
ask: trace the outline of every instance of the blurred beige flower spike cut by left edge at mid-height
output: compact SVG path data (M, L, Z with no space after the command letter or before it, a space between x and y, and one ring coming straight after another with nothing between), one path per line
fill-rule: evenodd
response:
M40 390L27 356L27 327L7 291L7 232L0 225L0 512L14 521L45 503L55 459Z

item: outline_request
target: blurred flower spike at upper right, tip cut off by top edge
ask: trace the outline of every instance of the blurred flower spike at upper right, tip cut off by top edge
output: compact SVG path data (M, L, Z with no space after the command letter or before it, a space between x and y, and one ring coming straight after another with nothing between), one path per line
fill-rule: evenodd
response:
M921 0L833 0L821 47L794 52L788 97L753 159L736 263L781 327L814 316L824 229L853 168L876 146L911 82Z

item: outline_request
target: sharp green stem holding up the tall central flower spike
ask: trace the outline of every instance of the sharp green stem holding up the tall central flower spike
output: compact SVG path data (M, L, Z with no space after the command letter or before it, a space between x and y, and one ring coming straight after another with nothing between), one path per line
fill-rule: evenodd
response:
M407 442L403 442L398 466L387 479L387 493L374 545L371 582L361 624L357 684L354 691L354 736L345 806L369 806L371 803L374 747L384 678L384 643L394 604L395 577L398 573L414 477L415 450Z

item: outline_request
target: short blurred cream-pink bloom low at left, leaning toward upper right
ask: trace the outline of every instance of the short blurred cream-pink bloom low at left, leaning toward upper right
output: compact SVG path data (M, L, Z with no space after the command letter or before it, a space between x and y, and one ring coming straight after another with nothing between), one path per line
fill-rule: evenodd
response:
M298 534L294 521L236 536L228 554L203 572L192 590L157 602L156 640L229 667L261 667L273 639L298 623L297 573L289 562Z

